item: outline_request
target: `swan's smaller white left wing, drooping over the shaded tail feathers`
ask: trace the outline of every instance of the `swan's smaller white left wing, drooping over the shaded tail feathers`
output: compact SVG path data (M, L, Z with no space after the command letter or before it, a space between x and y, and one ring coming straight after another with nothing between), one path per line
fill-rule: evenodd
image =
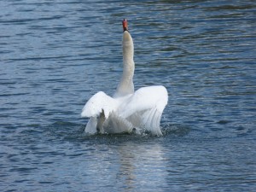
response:
M82 109L82 117L98 117L100 113L105 113L105 117L108 118L108 114L116 108L116 102L114 99L104 92L97 92L90 98Z

